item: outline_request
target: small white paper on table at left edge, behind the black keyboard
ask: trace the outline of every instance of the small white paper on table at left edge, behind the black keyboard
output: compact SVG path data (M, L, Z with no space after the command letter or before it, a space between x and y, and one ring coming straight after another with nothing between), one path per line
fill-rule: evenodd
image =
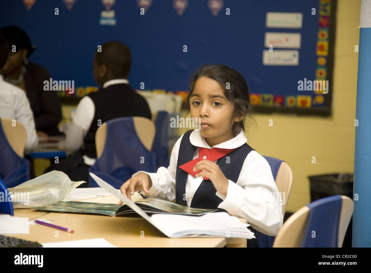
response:
M0 234L29 234L28 218L10 217L0 214Z

